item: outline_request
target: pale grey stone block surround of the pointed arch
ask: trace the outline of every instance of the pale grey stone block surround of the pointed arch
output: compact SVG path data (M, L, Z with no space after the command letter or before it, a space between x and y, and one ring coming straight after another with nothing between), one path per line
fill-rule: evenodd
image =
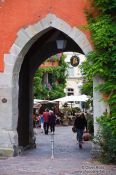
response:
M44 34L45 30L49 31L51 27L56 28L68 35L83 50L85 55L92 51L89 41L79 29L76 27L71 27L65 21L53 14L47 15L44 19L34 25L30 25L27 28L22 28L17 33L17 39L11 47L9 54L5 54L4 73L0 74L0 78L2 78L2 81L0 82L2 97L7 99L7 103L2 103L2 108L0 109L0 114L2 116L2 132L0 135L0 140L2 140L2 142L0 141L0 150L9 150L9 155L11 156L14 153L14 148L18 146L16 128L18 121L18 81L20 68L26 53L31 48L33 43ZM100 102L97 95L96 92L94 92L94 96L97 98L94 99L94 106L96 108L94 111L94 118L97 116L99 111L98 108ZM99 111L99 116L104 112L104 104L102 104L102 107L103 110ZM5 123L4 118L6 110L9 114L8 124Z

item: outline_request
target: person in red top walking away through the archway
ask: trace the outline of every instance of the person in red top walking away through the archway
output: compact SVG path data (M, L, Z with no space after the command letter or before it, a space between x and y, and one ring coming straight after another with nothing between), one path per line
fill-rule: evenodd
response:
M49 129L49 110L46 109L45 112L43 112L43 118L44 118L44 132L45 134L48 134Z

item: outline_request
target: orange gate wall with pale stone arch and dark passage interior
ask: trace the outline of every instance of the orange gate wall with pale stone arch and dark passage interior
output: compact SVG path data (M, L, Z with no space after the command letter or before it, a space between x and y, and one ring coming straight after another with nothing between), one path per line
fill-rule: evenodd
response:
M67 40L64 51L87 55L90 35L80 30L87 24L89 0L0 1L0 154L13 156L19 147L33 147L33 76L46 58L59 53L56 40ZM102 80L94 77L96 87ZM93 91L96 117L108 108ZM23 105L22 105L23 104Z

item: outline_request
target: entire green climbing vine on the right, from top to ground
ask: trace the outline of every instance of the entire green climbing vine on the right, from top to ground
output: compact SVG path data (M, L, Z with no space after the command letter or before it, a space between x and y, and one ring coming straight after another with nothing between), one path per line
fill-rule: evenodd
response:
M98 123L102 133L103 157L109 162L115 161L116 143L114 135L116 123L116 1L91 0L91 8L86 10L88 26L93 41L94 51L88 54L86 62L81 66L85 77L82 90L92 92L92 77L100 76L104 83L96 90L107 96L110 114L104 114ZM108 119L110 118L110 119ZM107 128L107 129L106 129ZM110 132L110 134L108 134ZM110 135L110 137L109 137ZM109 139L109 141L107 141ZM100 143L100 142L99 142ZM109 158L109 156L111 158Z

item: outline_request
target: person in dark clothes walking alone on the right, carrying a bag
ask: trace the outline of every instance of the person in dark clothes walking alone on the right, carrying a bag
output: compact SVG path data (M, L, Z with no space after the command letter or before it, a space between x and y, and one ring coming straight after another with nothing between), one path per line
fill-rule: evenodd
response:
M79 148L82 149L82 136L84 130L87 130L87 120L84 113L77 114L74 121L74 127L77 131L77 141L79 142Z

